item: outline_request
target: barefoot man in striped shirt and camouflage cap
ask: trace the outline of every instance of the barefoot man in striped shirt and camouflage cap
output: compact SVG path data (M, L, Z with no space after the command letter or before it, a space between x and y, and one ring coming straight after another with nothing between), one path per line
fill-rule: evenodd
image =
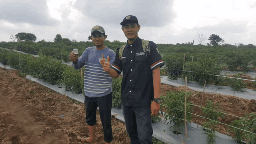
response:
M74 52L70 54L70 60L73 61L72 66L75 69L84 66L84 105L90 137L78 136L78 139L88 143L96 142L96 110L99 107L104 141L109 144L113 139L111 128L112 78L104 72L100 60L108 59L108 62L112 64L115 60L115 52L104 46L104 40L106 40L104 28L94 26L91 34L95 46L86 48L80 58L74 55Z

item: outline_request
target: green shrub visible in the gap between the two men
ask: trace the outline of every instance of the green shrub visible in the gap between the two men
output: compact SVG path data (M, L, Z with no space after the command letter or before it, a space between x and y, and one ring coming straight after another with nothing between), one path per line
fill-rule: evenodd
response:
M122 77L112 78L112 107L113 108L122 108L121 102L121 83Z

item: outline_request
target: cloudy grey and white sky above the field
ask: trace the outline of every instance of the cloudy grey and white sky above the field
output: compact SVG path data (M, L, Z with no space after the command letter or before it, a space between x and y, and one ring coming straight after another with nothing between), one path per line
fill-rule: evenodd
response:
M225 43L256 45L255 0L1 0L0 41L19 32L53 42L56 34L87 41L95 25L107 40L125 42L120 22L138 18L140 38L158 44L192 42L197 34L217 34Z

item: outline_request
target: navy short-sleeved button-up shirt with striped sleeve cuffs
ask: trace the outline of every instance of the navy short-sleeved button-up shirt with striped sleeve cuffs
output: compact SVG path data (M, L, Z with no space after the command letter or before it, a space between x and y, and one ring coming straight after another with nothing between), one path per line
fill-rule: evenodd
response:
M122 105L132 107L147 107L154 98L152 70L162 67L164 62L157 46L149 41L150 54L145 55L142 48L142 40L138 37L133 44L127 44L122 52L122 60L119 58L119 50L116 50L116 58L112 69L118 74L123 71L121 99Z

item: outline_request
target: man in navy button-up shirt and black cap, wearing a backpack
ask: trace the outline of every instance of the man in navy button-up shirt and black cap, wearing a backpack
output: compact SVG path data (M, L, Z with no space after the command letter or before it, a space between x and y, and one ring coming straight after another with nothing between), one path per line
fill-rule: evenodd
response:
M118 78L123 71L121 99L131 143L152 144L151 116L160 110L160 68L164 62L152 41L149 41L150 52L145 54L142 39L138 37L140 25L136 16L126 16L120 24L127 44L122 56L118 48L113 65L104 62L103 68L112 78Z

